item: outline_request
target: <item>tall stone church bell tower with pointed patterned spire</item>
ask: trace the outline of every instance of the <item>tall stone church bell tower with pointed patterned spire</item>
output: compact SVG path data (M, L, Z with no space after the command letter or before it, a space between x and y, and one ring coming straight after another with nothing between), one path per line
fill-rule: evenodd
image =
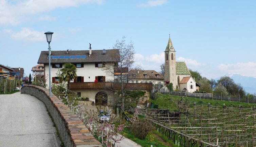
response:
M169 34L170 35L170 34ZM175 49L172 46L171 38L169 40L164 51L165 54L165 73L164 81L168 85L169 83L173 84L173 89L176 89L176 55Z

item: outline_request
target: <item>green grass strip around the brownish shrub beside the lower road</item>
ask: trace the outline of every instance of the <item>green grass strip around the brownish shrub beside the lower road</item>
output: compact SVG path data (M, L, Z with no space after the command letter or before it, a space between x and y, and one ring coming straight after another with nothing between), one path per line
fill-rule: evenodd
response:
M172 143L171 141L169 141L166 137L164 138L164 136L162 136L161 134L159 134L157 132L157 130L154 131L150 131L145 140L141 140L138 139L137 137L135 137L132 132L129 130L129 128L124 128L122 133L124 134L124 136L132 141L134 141L135 143L141 145L142 147L150 147L150 145L153 145L153 147L167 147L166 145L164 145L164 143L162 141L159 141L156 138L156 135L159 136L160 138L162 138L165 142L171 144L173 147L176 147L174 145L174 143ZM168 146L169 147L169 146Z

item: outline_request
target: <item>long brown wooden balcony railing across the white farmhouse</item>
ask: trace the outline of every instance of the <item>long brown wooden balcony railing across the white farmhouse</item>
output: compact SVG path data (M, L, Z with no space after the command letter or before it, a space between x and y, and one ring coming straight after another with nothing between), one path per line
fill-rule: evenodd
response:
M126 90L152 90L152 83L124 83ZM121 90L121 84L112 82L71 82L70 89L114 89Z

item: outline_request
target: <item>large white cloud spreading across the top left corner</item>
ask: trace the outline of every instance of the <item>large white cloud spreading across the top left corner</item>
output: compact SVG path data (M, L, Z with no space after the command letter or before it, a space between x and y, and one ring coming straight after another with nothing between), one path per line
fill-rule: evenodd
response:
M18 25L29 17L56 8L75 7L86 3L102 4L104 0L0 0L0 25Z

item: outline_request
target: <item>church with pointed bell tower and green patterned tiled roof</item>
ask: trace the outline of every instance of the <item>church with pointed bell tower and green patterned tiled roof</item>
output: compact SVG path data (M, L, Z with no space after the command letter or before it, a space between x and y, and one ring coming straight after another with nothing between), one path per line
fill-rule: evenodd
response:
M166 85L172 83L173 90L179 89L181 91L193 93L199 90L199 85L191 74L185 62L176 62L176 51L171 43L171 38L167 43L165 53L165 73L164 82Z

